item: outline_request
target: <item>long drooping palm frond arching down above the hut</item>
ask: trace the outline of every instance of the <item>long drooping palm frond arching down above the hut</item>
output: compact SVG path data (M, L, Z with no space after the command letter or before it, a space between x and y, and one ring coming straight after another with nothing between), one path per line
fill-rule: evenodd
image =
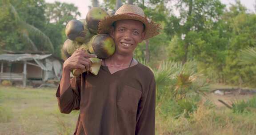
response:
M21 40L24 42L24 44L30 46L33 49L33 51L38 51L36 44L30 38L30 36L36 36L41 39L44 47L47 48L48 51L52 53L54 52L54 48L49 37L46 36L43 32L41 32L38 28L22 20L19 14L17 13L15 7L10 2L4 2L2 6L0 6L0 8L6 8L14 15L16 24L19 24L18 32L20 33Z

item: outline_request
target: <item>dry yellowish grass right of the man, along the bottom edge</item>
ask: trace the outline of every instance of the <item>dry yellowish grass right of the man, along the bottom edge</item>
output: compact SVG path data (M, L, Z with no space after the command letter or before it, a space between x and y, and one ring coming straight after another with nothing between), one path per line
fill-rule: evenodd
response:
M255 114L233 114L199 106L190 119L162 119L157 115L158 135L256 135Z

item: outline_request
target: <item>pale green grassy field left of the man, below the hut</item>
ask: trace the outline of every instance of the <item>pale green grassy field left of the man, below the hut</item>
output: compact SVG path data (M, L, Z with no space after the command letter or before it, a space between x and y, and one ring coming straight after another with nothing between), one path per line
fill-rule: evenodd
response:
M78 112L61 114L55 92L0 86L0 135L71 135Z

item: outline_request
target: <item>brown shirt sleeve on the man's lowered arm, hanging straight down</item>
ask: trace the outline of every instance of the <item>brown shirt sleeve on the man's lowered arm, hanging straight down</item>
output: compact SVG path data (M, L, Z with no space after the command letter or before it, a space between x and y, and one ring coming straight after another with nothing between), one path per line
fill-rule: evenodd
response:
M156 81L154 77L150 86L143 93L137 113L135 135L155 135Z

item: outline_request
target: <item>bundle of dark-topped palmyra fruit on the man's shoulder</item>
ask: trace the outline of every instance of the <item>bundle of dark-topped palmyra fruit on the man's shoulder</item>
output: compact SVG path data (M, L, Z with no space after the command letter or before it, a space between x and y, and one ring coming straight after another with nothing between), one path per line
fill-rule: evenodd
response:
M108 16L108 13L98 7L91 8L86 19L71 20L66 26L66 36L68 39L64 42L61 54L64 60L67 60L76 49L81 49L86 53L92 53L97 58L89 58L92 62L90 72L94 75L100 70L101 60L106 59L115 52L115 42L108 34L98 34L98 24L101 19ZM74 69L74 76L85 72L86 69Z

